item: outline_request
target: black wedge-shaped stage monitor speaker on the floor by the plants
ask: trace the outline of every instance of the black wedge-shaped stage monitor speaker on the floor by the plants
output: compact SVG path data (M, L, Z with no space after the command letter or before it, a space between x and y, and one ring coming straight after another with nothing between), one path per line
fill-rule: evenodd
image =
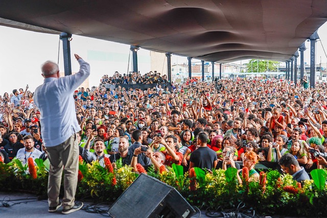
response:
M112 217L191 217L193 207L172 186L141 174L109 209Z

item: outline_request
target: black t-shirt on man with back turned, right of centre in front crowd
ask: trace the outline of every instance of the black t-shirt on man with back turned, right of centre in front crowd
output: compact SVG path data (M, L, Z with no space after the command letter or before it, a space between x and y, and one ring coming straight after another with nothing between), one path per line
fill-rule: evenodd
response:
M212 169L214 161L217 160L217 154L208 147L200 147L191 153L190 162L195 167Z

